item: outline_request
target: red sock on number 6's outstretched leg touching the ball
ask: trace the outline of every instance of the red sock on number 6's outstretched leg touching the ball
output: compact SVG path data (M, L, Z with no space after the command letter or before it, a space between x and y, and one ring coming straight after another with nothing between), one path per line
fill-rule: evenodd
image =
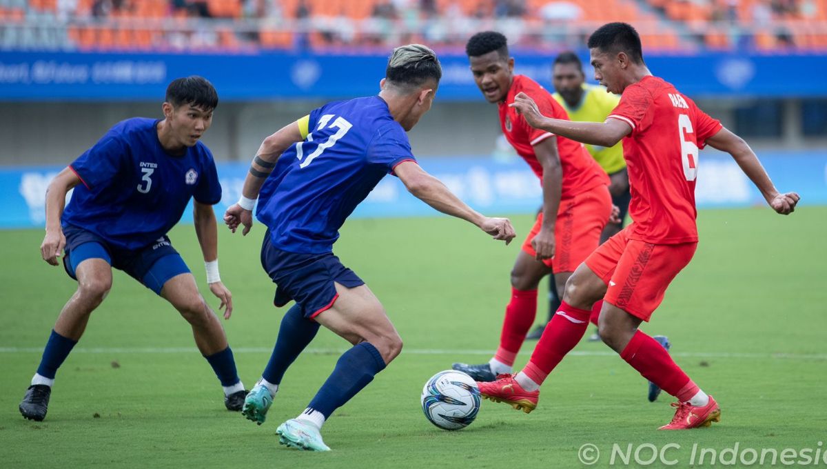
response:
M586 328L589 327L588 309L572 308L565 301L543 331L543 337L537 342L534 353L523 373L538 385L542 385L546 376L552 372L557 363L566 357L566 353L580 342Z

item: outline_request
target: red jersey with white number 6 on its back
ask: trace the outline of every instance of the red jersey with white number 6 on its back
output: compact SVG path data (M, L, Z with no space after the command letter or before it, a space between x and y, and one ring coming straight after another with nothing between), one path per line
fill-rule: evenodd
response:
M632 126L623 139L634 221L630 239L653 244L697 242L698 150L721 124L663 79L629 85L609 119Z

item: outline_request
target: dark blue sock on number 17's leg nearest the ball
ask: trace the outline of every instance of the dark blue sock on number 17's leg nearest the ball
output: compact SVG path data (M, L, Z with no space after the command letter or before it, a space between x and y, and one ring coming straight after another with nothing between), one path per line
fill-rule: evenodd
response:
M370 342L361 342L344 352L336 368L324 382L309 409L318 410L327 419L334 410L342 407L361 391L373 376L385 369L385 360Z

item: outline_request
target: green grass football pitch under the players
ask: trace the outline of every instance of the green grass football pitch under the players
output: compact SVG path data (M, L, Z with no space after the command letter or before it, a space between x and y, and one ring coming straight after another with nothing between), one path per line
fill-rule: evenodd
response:
M514 224L522 240L531 219ZM827 450L827 208L789 218L703 211L699 224L695 260L644 330L672 339L676 361L719 401L720 424L657 432L672 418L669 396L648 403L643 378L602 343L584 341L546 381L532 414L484 401L474 424L446 432L422 414L423 383L452 361L489 359L519 242L491 242L450 218L348 222L337 255L382 300L405 348L325 425L329 453L280 447L275 428L304 409L346 342L319 333L258 427L223 408L178 313L120 272L60 369L48 417L22 419L17 404L75 284L40 260L40 230L0 232L0 467L581 467L585 443L600 450L597 467L609 465L614 443L676 443L666 456L687 467L694 444ZM251 386L283 310L273 308L274 286L259 264L261 225L246 238L221 233L222 278L235 301L224 325ZM171 238L204 285L192 227ZM523 347L519 366L532 348ZM639 452L638 462L651 455Z

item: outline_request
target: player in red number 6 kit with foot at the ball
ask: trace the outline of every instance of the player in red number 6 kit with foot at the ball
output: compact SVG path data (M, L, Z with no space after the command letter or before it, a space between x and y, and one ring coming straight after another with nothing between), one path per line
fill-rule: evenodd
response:
M675 417L661 429L709 426L720 419L718 404L686 376L659 343L638 330L695 253L698 150L709 145L729 153L777 213L791 213L799 196L780 194L746 142L707 116L672 84L649 72L640 37L632 26L601 26L590 36L589 49L595 79L610 93L623 93L605 122L543 117L542 108L526 94L519 94L510 106L532 127L576 141L613 146L622 138L632 187L629 213L634 223L577 267L566 284L562 306L523 371L493 383L480 383L480 393L527 413L534 409L543 380L586 332L592 304L602 298L600 338L641 375L678 400L672 404Z

